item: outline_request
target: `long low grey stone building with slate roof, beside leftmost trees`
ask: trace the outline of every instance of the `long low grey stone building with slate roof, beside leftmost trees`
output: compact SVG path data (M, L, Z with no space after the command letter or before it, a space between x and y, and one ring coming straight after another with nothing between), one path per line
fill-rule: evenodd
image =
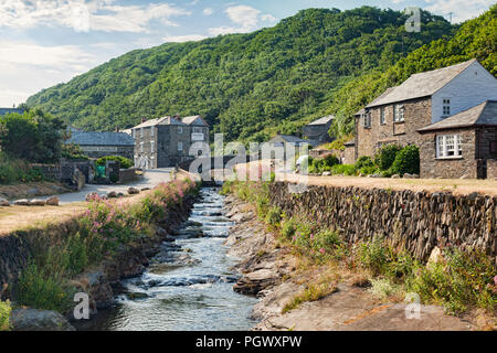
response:
M133 160L135 141L124 132L83 132L71 129L65 143L78 145L89 158L121 156Z

